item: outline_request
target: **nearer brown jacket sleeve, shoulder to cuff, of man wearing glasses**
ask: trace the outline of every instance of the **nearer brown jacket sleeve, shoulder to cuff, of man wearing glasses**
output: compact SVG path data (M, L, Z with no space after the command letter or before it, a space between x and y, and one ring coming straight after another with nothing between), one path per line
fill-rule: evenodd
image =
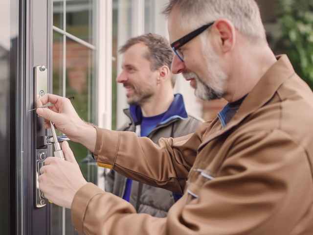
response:
M225 157L216 178L200 174L166 218L136 214L89 183L75 194L74 227L89 235L293 234L313 203L305 150L273 131L237 138Z

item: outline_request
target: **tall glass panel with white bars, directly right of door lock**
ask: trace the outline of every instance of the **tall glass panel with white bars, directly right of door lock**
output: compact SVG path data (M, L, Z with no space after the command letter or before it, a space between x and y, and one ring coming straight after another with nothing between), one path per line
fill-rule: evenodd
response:
M54 26L96 45L94 37L96 14L93 9L96 9L97 0L65 0L66 28L63 27L63 2L64 0L53 1ZM94 88L95 54L96 51L56 31L53 32L53 94L73 96L72 104L78 115L92 123L95 122L97 115ZM97 184L97 166L90 152L83 145L74 142L69 144L85 179ZM51 226L53 235L63 234L63 232L66 235L77 234L71 225L70 210L55 205L52 206Z

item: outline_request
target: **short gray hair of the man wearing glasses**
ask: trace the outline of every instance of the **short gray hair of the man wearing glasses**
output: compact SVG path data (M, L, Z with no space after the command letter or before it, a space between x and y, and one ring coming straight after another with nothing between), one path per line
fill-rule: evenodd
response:
M169 0L163 14L169 16L176 7L180 11L181 25L188 29L225 18L247 37L266 41L265 28L255 0Z

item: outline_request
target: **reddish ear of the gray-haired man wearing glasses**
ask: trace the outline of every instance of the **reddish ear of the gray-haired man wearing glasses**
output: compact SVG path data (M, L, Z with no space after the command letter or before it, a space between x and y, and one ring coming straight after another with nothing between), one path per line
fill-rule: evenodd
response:
M235 26L227 19L220 19L214 23L213 28L218 33L219 47L224 53L230 51L236 43Z

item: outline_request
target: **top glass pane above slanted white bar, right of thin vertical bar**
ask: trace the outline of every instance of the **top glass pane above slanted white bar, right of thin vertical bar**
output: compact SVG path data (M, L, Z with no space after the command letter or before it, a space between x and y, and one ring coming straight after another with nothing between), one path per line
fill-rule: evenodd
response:
M94 11L96 0L67 0L66 31L90 44L94 44Z

